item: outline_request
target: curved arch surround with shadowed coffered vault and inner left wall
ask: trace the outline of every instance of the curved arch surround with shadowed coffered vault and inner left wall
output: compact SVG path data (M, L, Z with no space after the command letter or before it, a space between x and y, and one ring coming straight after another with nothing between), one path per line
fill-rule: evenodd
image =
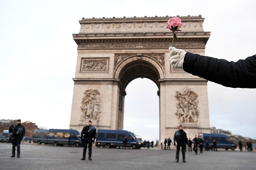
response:
M118 129L123 129L125 88L134 79L147 78L152 80L160 91L159 79L164 77L162 66L149 58L148 55L127 55L116 67L115 78L119 79L119 115ZM158 91L158 95L159 95ZM161 123L161 122L160 122ZM159 124L160 124L159 123Z

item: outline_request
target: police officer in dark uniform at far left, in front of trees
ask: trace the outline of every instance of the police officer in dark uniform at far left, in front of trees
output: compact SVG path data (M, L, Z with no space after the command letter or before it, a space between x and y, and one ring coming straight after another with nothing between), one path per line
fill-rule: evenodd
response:
M17 146L17 158L20 157L20 142L22 138L25 136L25 127L22 126L21 120L17 121L16 126L9 127L9 133L12 132L12 156L11 158L15 157L15 149Z

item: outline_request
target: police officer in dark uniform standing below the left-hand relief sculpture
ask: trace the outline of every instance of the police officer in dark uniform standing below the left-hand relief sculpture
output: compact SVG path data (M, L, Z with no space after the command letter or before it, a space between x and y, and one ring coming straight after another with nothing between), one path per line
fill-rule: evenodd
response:
M92 160L91 159L92 143L94 143L94 140L96 139L97 131L96 131L96 128L91 124L92 124L92 121L89 120L88 125L84 126L81 132L81 140L84 144L83 158L81 160L85 160L87 145L89 148L89 161Z

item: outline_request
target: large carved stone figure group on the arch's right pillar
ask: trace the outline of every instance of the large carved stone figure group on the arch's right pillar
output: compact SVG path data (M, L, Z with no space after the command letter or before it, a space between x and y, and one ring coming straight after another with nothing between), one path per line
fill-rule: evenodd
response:
M184 93L176 91L175 98L178 100L177 111L175 115L180 123L196 123L198 121L199 112L197 109L198 95L190 89L185 89Z

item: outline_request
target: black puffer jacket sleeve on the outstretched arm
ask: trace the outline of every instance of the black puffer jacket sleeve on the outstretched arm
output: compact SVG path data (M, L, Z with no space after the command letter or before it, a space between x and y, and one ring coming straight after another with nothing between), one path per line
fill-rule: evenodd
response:
M256 88L256 55L227 61L187 52L183 70L231 88Z

